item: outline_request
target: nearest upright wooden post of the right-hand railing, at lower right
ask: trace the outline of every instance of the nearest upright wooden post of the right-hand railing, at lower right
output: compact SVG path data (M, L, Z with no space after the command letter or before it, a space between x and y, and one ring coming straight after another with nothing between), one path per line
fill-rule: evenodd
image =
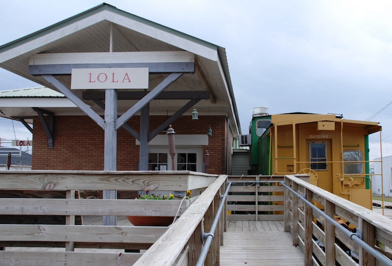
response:
M374 248L374 226L367 221L358 218L358 228L361 230L362 240ZM359 265L374 266L375 258L363 247L359 248Z

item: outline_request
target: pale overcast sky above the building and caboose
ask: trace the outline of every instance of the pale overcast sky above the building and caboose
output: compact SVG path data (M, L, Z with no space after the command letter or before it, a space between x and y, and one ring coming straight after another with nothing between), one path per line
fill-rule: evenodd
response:
M0 45L102 3L0 0ZM380 122L392 141L390 0L108 0L108 4L226 48L242 133L253 107L270 114L339 113ZM0 90L36 86L0 68ZM387 107L388 106L388 107ZM25 139L0 117L0 137ZM377 141L379 134L370 139Z

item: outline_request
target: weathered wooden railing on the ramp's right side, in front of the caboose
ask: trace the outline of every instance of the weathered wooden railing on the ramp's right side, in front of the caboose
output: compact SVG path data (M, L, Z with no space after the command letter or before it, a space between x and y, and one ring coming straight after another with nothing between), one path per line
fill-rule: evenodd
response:
M306 266L392 265L391 219L294 176L286 176L284 183L289 187L285 189L285 231L292 233L293 244L305 254Z

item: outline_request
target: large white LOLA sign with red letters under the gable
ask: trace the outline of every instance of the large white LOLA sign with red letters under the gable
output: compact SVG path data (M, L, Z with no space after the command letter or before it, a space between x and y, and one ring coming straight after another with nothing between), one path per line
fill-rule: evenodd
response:
M148 89L148 67L73 68L71 89Z

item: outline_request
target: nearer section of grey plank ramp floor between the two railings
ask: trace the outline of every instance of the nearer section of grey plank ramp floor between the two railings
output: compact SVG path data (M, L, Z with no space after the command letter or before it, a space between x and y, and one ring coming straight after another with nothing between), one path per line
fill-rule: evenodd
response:
M304 254L280 221L230 221L223 243L221 266L304 265Z

